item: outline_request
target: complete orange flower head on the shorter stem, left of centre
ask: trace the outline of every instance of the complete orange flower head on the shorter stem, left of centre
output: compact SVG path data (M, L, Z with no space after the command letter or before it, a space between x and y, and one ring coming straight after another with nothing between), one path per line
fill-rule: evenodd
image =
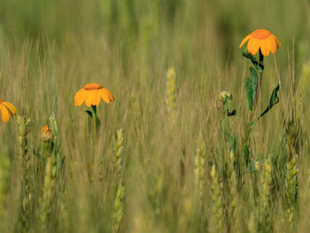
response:
M99 105L101 97L107 104L115 100L110 90L97 83L88 83L75 94L74 105L81 106L84 101L88 107Z

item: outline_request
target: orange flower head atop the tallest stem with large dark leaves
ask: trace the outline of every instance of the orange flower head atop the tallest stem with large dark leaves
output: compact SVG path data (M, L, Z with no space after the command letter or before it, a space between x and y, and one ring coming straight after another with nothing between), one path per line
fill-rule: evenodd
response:
M242 43L240 43L240 48L247 41L247 49L252 55L255 55L260 50L265 57L269 55L270 51L275 54L275 51L281 46L278 38L265 29L258 29L253 31L252 34L246 35Z

